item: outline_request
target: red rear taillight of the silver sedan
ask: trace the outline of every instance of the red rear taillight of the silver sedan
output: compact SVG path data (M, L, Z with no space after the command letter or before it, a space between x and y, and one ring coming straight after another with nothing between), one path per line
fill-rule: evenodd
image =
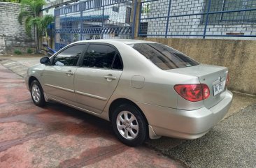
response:
M206 84L177 84L175 91L185 100L198 102L210 96L210 89Z

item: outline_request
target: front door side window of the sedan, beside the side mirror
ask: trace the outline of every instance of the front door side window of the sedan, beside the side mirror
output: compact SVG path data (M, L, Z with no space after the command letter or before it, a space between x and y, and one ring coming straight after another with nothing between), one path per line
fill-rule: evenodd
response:
M53 64L55 66L76 66L79 56L85 49L85 44L73 45L55 56Z

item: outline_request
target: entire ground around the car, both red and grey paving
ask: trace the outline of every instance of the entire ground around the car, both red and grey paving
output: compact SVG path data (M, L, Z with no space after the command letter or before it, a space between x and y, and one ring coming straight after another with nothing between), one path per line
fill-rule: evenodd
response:
M0 63L22 76L36 59L0 58ZM253 96L234 93L225 119L200 139L163 137L129 148L113 137L110 123L56 103L35 107L21 77L3 67L0 74L0 167L256 167Z

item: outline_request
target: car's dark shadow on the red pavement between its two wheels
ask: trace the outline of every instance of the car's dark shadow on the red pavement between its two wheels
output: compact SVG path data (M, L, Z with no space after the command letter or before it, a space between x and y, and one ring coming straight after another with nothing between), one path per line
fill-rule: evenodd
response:
M45 132L50 134L58 132L87 138L115 139L109 121L58 102L48 102L43 109L36 114L36 120L43 126Z

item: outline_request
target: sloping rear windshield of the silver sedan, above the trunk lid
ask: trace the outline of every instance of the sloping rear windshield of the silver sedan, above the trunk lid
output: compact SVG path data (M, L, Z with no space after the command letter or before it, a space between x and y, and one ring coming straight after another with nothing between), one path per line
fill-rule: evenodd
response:
M199 63L171 47L159 43L129 44L162 70L197 66Z

